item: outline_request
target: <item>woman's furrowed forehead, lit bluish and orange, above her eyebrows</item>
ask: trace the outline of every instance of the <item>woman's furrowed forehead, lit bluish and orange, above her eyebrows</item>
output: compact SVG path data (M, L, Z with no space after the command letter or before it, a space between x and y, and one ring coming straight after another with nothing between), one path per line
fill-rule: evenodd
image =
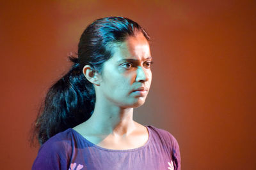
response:
M136 59L144 60L150 57L150 46L143 34L129 36L123 43L114 48L112 59Z

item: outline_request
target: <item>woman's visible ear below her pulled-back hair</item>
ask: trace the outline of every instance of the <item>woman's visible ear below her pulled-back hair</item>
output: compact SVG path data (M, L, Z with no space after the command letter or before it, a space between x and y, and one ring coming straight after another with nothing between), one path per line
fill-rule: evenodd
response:
M85 78L93 83L94 85L100 85L100 74L97 71L93 70L91 66L86 65L83 67L83 73Z

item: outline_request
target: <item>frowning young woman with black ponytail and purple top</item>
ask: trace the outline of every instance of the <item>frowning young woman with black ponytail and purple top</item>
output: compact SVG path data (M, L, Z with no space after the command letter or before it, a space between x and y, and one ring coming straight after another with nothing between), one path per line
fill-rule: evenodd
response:
M123 17L83 32L78 59L49 90L36 120L41 148L32 169L180 169L179 145L132 120L152 79L149 36Z

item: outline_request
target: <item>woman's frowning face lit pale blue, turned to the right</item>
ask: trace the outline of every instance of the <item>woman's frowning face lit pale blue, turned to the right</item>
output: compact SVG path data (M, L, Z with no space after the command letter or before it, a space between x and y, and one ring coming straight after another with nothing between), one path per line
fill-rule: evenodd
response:
M152 79L148 41L143 34L129 36L114 50L113 57L104 62L97 93L122 108L139 107L145 102Z

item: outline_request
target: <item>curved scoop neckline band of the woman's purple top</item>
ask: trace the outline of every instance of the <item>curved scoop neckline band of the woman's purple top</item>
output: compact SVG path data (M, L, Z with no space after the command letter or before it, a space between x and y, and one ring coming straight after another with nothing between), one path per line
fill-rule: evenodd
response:
M143 146L140 146L138 148L133 148L133 149L128 149L128 150L113 150L113 149L108 149L108 148L102 148L98 145L95 145L94 143L92 143L91 141L88 141L88 139L84 138L81 134L79 134L79 132L75 131L74 129L70 128L70 131L73 132L73 134L76 134L76 136L78 138L81 138L82 140L84 140L86 143L90 144L90 146L93 146L95 148L98 148L100 150L105 150L105 151L108 151L108 152L134 152L134 151L138 151L138 150L141 150L143 148L145 148L148 143L150 143L150 140L151 140L151 131L150 131L150 128L148 126L145 126L147 128L147 131L148 131L148 140L147 142L145 143L145 145Z

